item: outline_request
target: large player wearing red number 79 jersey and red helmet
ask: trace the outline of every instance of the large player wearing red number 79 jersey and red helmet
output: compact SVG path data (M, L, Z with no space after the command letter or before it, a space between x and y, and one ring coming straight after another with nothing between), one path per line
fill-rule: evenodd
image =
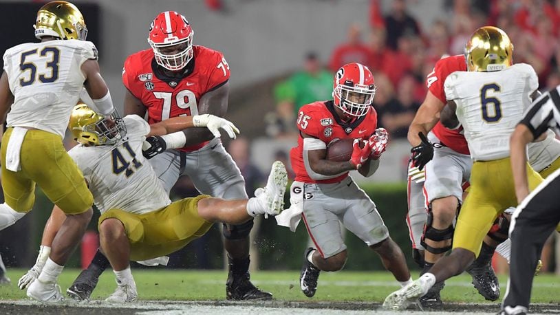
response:
M166 11L151 23L151 49L131 54L122 70L127 88L125 115L141 117L148 112L149 123L175 116L203 113L223 117L228 109L230 67L221 52L193 45L193 29L181 14ZM191 128L179 137L151 137L144 151L170 191L181 175L188 175L200 193L224 199L246 199L244 178L219 138L204 128ZM167 146L182 147L169 149ZM250 220L237 226L224 224L224 246L228 252L228 299L270 299L272 294L250 282ZM89 291L109 262L99 251L91 268L84 270L69 290ZM89 294L87 296L89 297Z

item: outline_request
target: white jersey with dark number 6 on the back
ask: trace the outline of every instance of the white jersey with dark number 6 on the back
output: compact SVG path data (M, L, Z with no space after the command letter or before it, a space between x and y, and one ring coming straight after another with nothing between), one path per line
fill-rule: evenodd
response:
M455 101L473 160L507 158L509 138L539 87L525 63L496 72L453 72L445 80L447 100Z

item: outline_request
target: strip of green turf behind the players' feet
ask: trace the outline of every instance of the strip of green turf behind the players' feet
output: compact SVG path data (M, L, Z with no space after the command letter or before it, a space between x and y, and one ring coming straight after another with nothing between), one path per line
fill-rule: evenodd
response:
M0 286L1 299L26 298L16 283L26 270L9 269L11 285ZM78 270L64 270L59 281L63 290L72 283ZM223 300L225 298L224 271L205 270L133 270L142 300ZM299 290L298 271L252 272L252 280L274 298L286 301L369 301L381 302L390 292L398 289L388 272L323 272L314 298L307 298ZM506 277L500 276L502 296L506 290ZM92 298L105 298L116 287L112 272L105 272ZM444 301L484 303L471 285L468 274L449 281L442 292ZM560 276L541 274L535 278L532 303L559 303Z

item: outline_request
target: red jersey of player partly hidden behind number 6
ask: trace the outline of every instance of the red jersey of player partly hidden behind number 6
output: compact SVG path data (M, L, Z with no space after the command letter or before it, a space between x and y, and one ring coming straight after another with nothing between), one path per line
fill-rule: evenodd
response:
M445 97L444 83L449 74L455 71L466 71L465 57L463 55L449 56L441 58L433 71L428 74L426 84L436 98L444 104L447 103ZM461 154L470 154L469 146L462 134L463 128L451 130L443 126L442 122L438 122L432 129L433 133L441 140L442 144L449 146L453 151Z

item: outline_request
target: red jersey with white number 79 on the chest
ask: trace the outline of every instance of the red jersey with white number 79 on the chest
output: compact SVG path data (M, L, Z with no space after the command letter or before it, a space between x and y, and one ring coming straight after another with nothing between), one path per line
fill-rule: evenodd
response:
M230 77L230 67L221 52L193 46L191 62L194 65L183 78L170 78L157 69L151 49L131 54L125 61L122 83L147 107L150 124L176 116L197 115L200 97L224 85ZM206 143L180 150L194 151Z

